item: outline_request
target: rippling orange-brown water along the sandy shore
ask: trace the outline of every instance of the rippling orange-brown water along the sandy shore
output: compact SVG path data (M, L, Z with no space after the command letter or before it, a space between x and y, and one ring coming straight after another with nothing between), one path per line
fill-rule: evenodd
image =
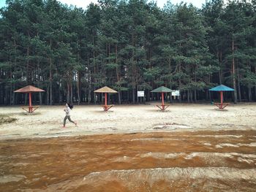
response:
M256 131L0 142L0 191L255 191Z

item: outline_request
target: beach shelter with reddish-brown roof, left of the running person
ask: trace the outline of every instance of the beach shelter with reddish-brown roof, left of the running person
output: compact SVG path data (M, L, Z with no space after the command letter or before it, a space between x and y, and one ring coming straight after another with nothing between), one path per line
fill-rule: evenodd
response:
M14 91L15 93L29 93L29 107L22 107L23 110L26 110L26 112L34 112L35 110L38 109L39 106L32 106L32 97L31 97L31 93L34 92L44 92L42 89L40 88L35 88L32 85L27 85L24 88L20 88L16 91Z

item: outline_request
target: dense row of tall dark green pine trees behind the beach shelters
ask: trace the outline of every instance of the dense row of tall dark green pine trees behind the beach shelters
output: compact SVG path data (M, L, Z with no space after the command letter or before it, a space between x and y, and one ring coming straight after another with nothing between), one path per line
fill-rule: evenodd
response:
M202 9L146 0L99 0L86 10L56 0L7 0L0 17L0 104L19 104L25 85L45 90L41 104L95 103L108 85L118 103L159 99L160 85L180 101L211 99L225 84L233 101L256 100L256 1L208 1ZM228 96L228 95L227 95ZM171 97L168 97L171 99Z

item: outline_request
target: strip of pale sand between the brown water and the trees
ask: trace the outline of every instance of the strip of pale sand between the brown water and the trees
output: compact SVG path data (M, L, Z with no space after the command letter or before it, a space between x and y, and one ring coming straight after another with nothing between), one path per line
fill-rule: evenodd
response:
M116 105L104 112L99 105L75 105L62 128L64 106L42 106L32 114L20 107L1 107L0 115L17 118L0 125L0 139L118 134L148 131L199 131L256 129L256 104L230 104L217 110L211 104L171 104L165 112L157 103Z

